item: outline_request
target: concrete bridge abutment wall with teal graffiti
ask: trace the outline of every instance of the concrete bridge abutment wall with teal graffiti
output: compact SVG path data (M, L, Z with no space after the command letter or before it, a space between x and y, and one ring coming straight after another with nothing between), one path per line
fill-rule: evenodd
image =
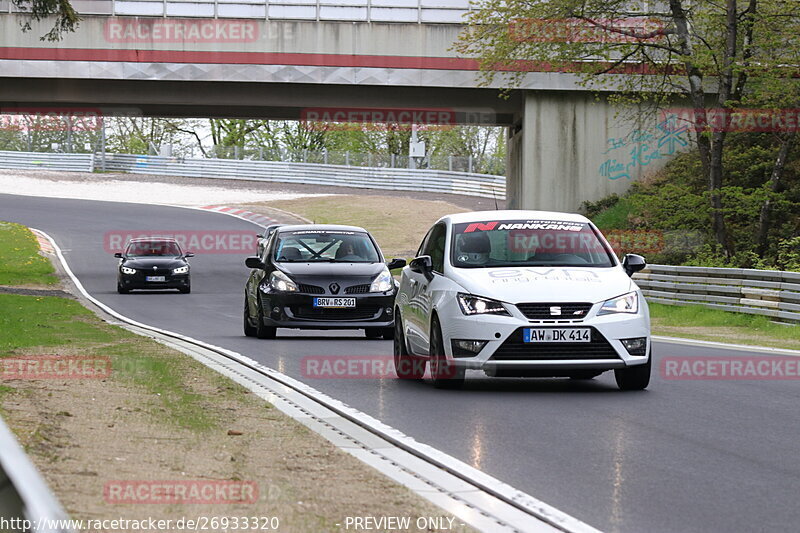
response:
M575 211L625 192L688 147L685 131L641 122L588 93L526 91L522 128L509 143L510 206Z

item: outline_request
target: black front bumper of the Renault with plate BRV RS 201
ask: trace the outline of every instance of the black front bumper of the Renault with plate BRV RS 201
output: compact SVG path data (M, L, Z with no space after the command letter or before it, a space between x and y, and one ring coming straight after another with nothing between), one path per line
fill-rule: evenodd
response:
M261 293L264 325L298 329L364 329L394 326L394 293L346 294L355 307L314 307L314 298L330 295Z

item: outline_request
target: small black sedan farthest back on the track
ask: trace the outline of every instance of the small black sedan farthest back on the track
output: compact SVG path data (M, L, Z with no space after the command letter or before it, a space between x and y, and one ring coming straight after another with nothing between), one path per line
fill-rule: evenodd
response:
M125 252L117 252L117 292L127 294L133 289L192 290L189 274L191 252L183 252L174 239L164 237L131 239Z

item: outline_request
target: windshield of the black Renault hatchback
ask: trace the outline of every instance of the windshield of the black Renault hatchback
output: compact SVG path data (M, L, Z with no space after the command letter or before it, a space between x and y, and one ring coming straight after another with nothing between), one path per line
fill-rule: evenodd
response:
M278 235L275 261L279 263L379 263L378 250L366 233L347 231L292 231Z

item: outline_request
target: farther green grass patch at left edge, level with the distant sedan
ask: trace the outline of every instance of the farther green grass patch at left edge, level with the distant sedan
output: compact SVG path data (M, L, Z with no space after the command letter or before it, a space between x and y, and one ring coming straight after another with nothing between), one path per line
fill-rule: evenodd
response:
M38 254L36 237L19 224L0 222L0 285L49 286L58 278L53 265Z

